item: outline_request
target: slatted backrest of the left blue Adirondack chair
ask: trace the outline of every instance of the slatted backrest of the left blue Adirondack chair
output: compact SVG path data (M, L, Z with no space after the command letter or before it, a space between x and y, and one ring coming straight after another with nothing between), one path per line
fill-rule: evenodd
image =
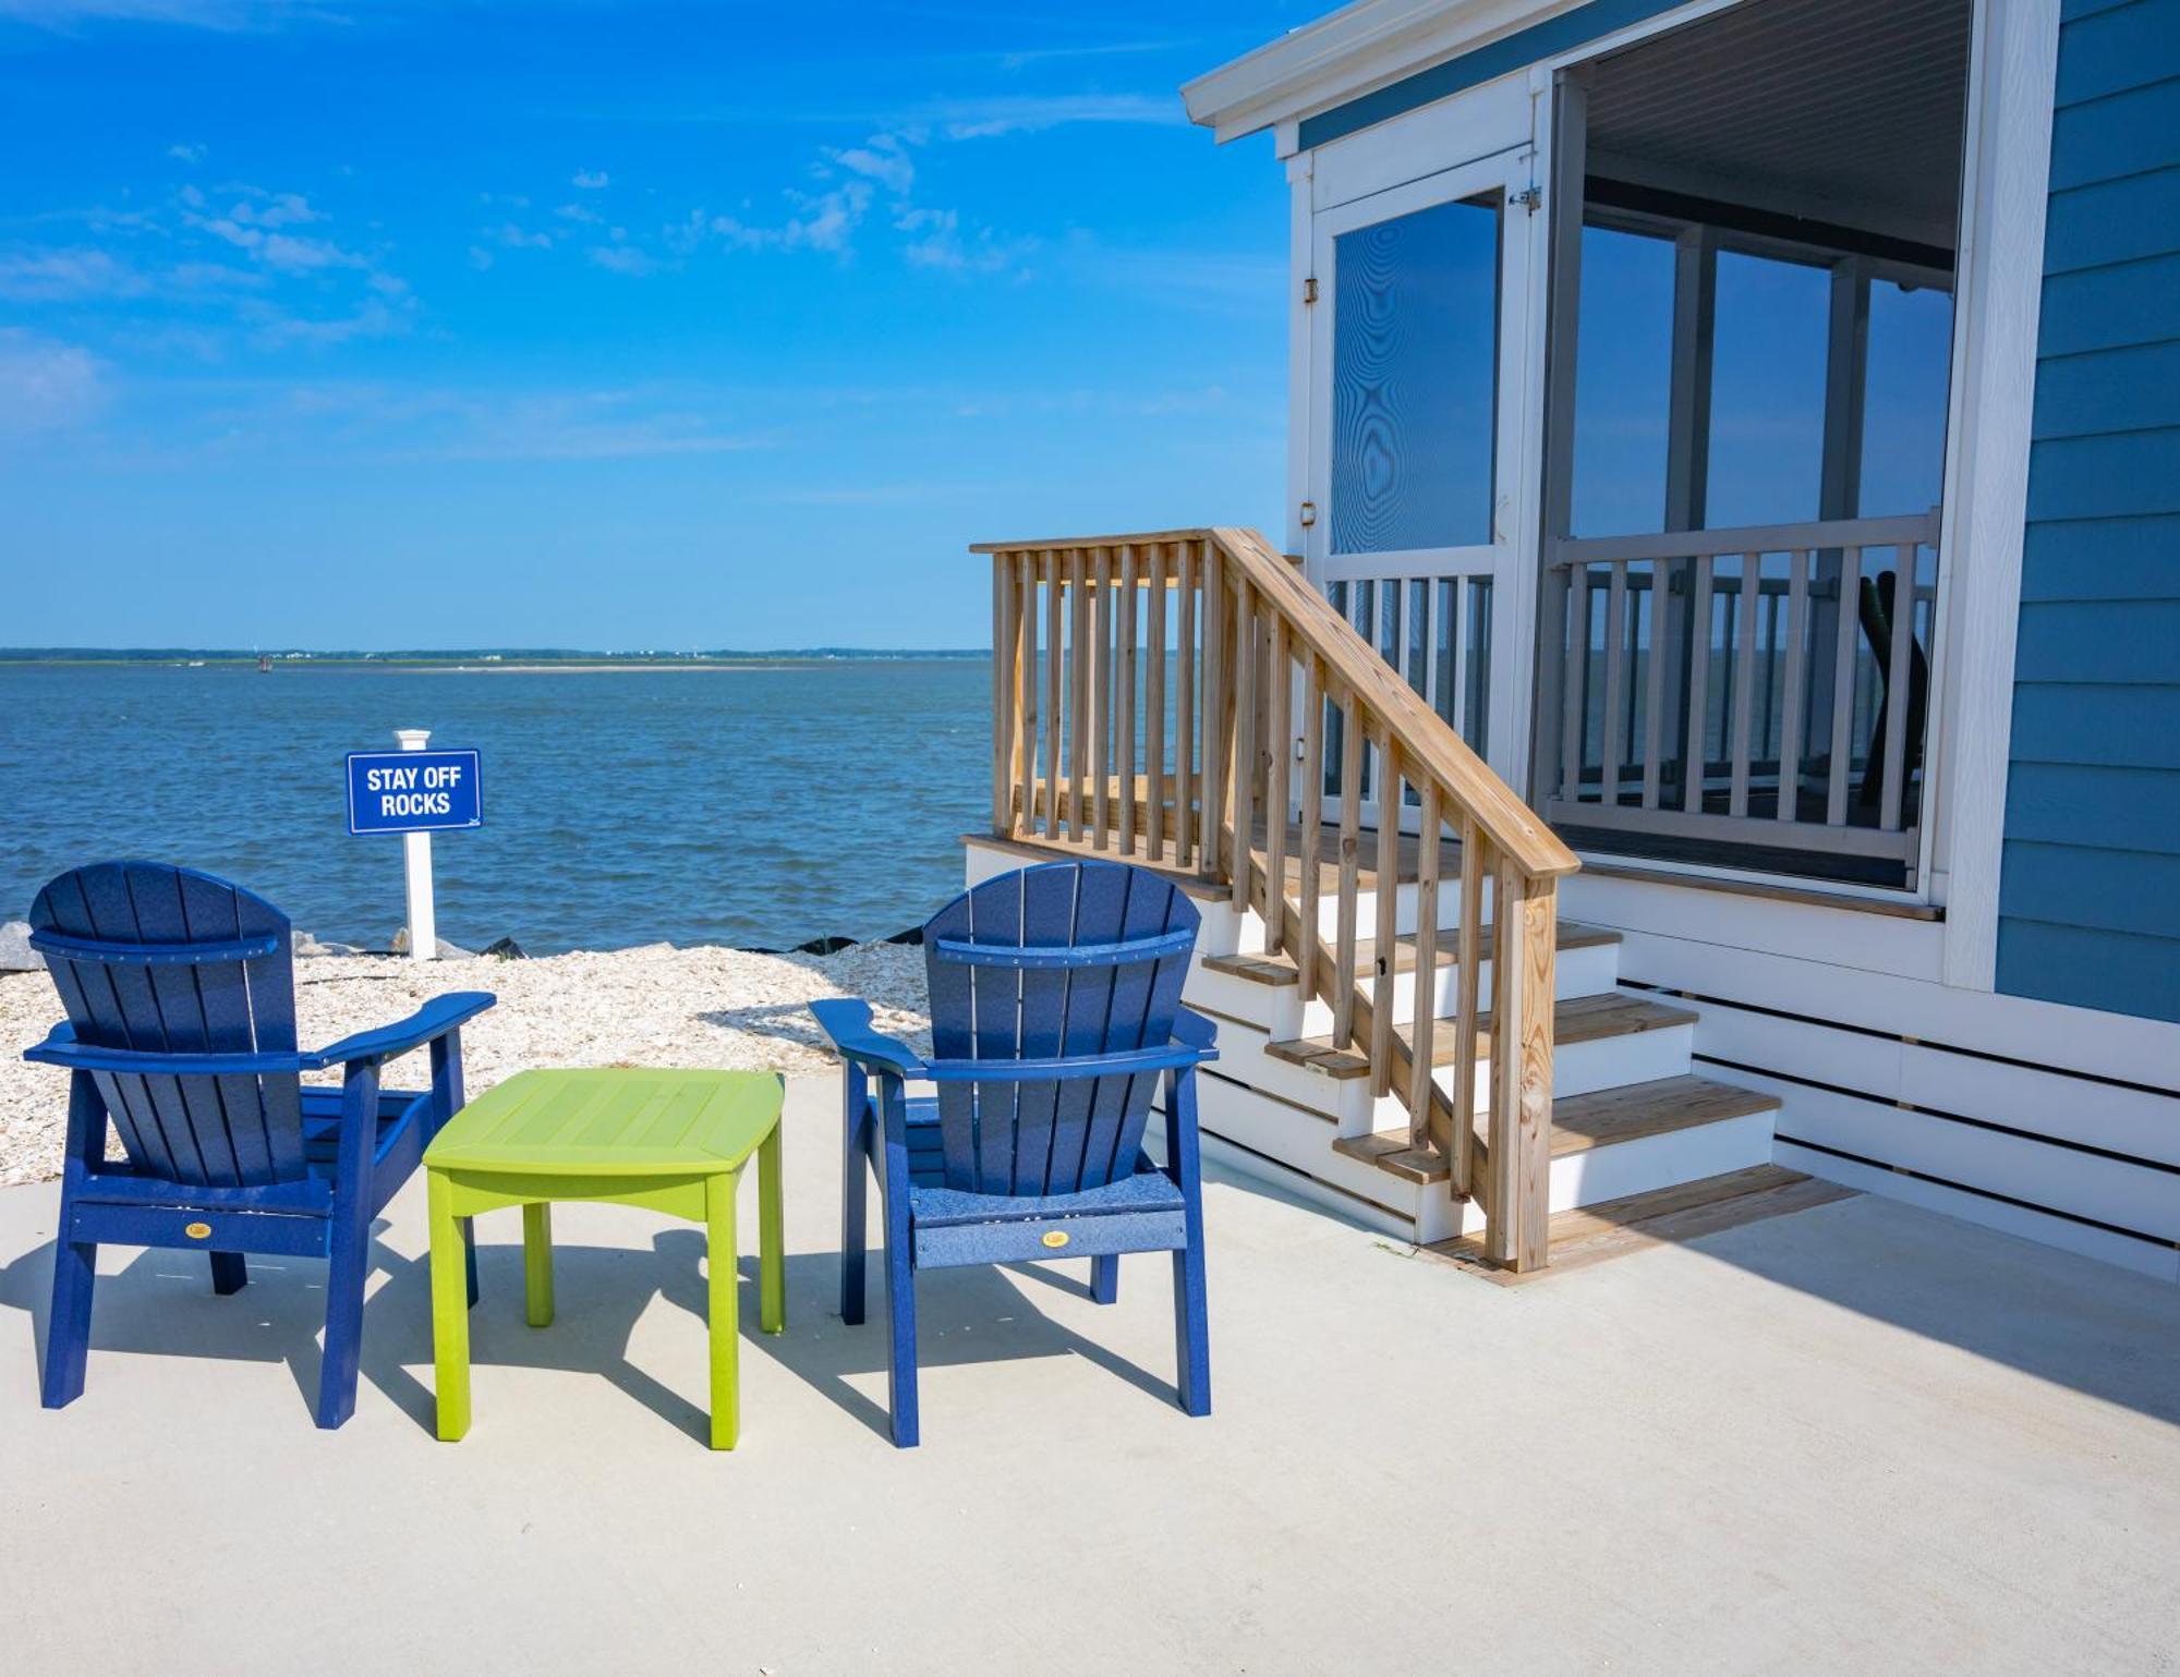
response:
M76 1039L159 1054L294 1052L288 917L166 862L98 862L31 904ZM301 1078L96 1072L137 1170L194 1187L303 1176Z

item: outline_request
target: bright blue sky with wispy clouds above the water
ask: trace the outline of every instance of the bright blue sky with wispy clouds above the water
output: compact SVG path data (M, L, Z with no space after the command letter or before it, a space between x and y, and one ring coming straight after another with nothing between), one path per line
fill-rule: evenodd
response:
M1277 531L1323 7L0 0L0 642L948 647Z

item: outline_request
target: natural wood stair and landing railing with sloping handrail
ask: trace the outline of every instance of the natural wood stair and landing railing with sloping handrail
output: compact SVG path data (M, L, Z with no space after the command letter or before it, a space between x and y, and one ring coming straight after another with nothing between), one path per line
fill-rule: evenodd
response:
M994 562L992 832L1192 871L1262 915L1267 952L1286 952L1301 995L1332 1008L1332 1048L1367 1056L1373 1093L1406 1106L1408 1152L1443 1161L1452 1194L1482 1204L1487 1254L1539 1268L1554 902L1574 854L1256 531L974 551ZM1384 817L1369 836L1365 756ZM1448 952L1441 884L1458 893ZM1358 971L1365 897L1373 963ZM1406 1032L1393 1026L1402 919L1417 943ZM1456 974L1443 1019L1441 954ZM1452 1032L1445 1085L1439 1032Z

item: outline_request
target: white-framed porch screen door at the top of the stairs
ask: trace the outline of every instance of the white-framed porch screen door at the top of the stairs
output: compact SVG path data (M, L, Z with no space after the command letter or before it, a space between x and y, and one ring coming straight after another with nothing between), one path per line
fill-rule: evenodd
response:
M1530 166L1522 146L1315 216L1310 573L1500 773L1526 725Z

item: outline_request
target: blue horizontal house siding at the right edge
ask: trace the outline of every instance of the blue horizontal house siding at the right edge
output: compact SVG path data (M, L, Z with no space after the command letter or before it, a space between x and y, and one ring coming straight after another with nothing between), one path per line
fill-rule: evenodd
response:
M2180 0L2058 48L1999 989L2180 1019Z

